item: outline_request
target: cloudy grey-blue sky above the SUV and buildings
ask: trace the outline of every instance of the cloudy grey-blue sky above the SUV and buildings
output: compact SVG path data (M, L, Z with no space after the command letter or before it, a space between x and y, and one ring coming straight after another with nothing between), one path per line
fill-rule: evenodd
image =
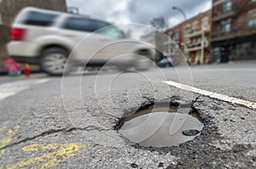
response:
M183 15L172 7L182 8L187 18L210 9L212 0L67 0L68 7L78 7L80 14L113 23L149 25L163 16L170 26L182 22Z

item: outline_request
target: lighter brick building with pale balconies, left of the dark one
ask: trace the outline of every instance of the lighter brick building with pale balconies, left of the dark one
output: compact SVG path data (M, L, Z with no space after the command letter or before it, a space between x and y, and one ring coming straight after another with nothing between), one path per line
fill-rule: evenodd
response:
M189 59L191 64L207 64L212 61L211 41L212 10L198 14L183 23L166 30L178 48ZM180 54L172 41L166 42L167 54L175 57Z

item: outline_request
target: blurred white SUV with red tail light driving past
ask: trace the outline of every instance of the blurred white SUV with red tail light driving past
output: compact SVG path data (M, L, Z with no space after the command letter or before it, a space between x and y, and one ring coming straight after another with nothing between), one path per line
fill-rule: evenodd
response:
M63 73L67 57L69 65L110 63L122 69L147 70L153 54L143 42L129 40L108 22L41 8L23 8L12 25L11 37L8 51L13 59L40 65L54 76Z

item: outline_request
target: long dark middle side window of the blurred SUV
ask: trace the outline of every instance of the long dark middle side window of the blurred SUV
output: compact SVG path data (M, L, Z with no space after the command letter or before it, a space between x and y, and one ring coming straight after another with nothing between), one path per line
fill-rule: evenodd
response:
M97 31L105 26L108 26L107 22L98 20L89 20L84 18L69 17L64 21L62 28L75 30L75 31Z

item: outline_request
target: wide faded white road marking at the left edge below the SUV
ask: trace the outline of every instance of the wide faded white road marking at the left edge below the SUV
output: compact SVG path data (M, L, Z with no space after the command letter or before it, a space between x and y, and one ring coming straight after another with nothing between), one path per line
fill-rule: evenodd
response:
M22 90L26 90L33 85L37 85L43 82L48 82L49 79L39 79L39 80L25 80L19 82L8 82L0 85L0 100L5 99L9 96L13 96L16 93L20 93Z

